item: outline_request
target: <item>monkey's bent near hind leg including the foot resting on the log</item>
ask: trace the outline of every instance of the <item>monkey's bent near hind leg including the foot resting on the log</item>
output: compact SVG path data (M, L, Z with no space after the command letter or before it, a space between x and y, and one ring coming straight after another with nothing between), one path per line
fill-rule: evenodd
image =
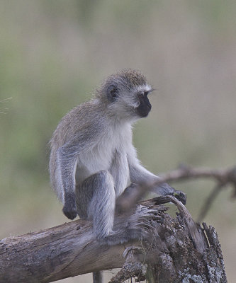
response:
M125 193L132 189L133 185ZM116 194L113 177L108 171L99 171L86 178L77 186L76 195L79 216L93 221L94 233L101 244L113 246L147 236L143 229L132 225L130 217L119 225L119 229L113 229Z

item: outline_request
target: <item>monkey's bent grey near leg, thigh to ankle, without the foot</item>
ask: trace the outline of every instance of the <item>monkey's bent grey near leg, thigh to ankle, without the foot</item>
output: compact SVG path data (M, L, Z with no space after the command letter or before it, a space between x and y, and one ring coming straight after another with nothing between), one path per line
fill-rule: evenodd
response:
M93 221L96 238L104 238L113 229L116 194L113 177L99 171L77 187L77 209L82 219Z

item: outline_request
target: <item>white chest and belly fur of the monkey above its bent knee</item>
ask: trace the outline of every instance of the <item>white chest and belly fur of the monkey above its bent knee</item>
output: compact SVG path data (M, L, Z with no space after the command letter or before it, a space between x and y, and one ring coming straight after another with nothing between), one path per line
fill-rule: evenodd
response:
M96 146L79 154L77 161L77 184L101 170L113 175L116 195L120 195L130 183L126 150L131 129L125 132L109 132ZM121 146L122 145L122 146ZM118 152L118 154L116 154Z

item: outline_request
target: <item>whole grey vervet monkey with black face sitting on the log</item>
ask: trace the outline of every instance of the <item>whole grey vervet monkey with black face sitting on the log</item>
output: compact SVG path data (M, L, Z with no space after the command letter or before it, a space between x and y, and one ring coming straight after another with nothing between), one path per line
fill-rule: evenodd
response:
M50 178L64 214L91 219L96 237L108 243L135 237L132 231L123 237L113 232L116 198L131 183L158 179L142 167L132 144L133 123L152 108L151 91L139 71L108 76L92 100L62 118L51 139ZM167 183L153 190L159 195L176 192ZM184 193L179 194L185 202Z

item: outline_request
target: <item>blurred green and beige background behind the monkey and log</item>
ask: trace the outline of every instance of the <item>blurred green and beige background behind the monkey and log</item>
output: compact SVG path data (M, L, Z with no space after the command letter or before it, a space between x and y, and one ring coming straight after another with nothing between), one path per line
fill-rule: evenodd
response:
M48 141L62 116L118 69L140 69L156 88L152 113L134 131L150 171L235 165L236 1L1 0L0 13L1 238L67 221L50 189ZM173 185L196 219L213 183ZM234 282L231 194L222 192L205 220Z

